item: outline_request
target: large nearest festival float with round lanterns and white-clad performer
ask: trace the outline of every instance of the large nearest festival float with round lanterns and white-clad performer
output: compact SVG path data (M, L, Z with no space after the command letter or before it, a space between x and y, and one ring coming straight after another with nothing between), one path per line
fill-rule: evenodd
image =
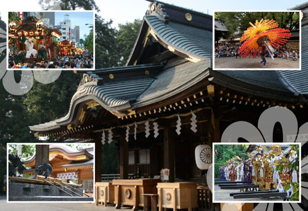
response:
M19 61L27 63L34 60L38 62L55 60L57 44L52 41L60 39L62 33L59 30L47 28L42 21L30 16L19 26L11 22L9 32L9 40L16 40L12 43L15 43L18 49L15 63ZM50 51L48 48L50 48Z

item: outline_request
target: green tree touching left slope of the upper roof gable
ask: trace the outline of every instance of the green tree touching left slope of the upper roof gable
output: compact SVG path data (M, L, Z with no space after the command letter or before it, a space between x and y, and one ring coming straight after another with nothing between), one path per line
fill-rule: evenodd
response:
M121 55L119 66L125 65L134 46L141 23L142 21L140 19L135 19L133 23L119 24L117 33L118 52Z

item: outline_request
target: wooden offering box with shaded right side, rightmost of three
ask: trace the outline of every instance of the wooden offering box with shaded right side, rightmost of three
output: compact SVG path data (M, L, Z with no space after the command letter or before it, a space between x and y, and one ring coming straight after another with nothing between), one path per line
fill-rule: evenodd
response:
M195 182L158 183L160 211L165 208L185 209L198 207Z

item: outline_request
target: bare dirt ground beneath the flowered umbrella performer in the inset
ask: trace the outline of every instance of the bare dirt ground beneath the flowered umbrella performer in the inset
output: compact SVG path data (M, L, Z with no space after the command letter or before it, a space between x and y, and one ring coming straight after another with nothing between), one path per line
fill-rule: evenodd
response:
M274 60L271 57L265 57L266 59L266 67L263 67L263 63L261 64L260 61L262 61L261 57L256 57L254 59L252 58L243 58L243 57L223 57L223 58L215 58L214 64L215 69L216 68L225 68L225 69L235 69L235 68L241 68L241 69L247 69L247 68L254 68L254 69L275 69L279 70L281 68L297 68L299 69L299 60L294 61L292 59L284 59L284 58L274 58Z

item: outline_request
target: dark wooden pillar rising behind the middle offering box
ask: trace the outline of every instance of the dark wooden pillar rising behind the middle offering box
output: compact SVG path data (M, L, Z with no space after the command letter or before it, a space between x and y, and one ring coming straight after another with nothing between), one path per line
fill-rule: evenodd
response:
M120 179L128 179L128 143L125 131L120 136Z

